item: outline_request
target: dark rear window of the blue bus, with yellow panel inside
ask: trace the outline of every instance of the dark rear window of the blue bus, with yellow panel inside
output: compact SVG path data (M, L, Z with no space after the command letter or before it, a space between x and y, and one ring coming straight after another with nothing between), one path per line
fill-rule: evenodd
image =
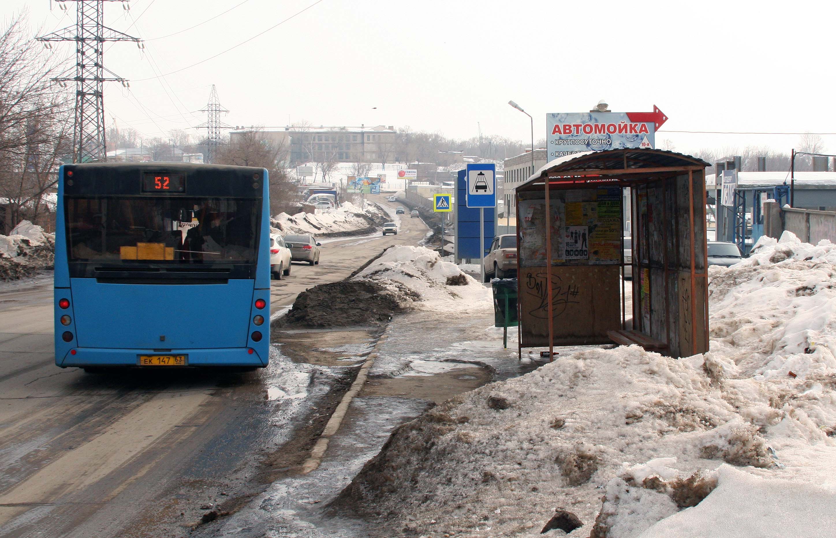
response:
M252 264L259 200L68 197L69 261Z

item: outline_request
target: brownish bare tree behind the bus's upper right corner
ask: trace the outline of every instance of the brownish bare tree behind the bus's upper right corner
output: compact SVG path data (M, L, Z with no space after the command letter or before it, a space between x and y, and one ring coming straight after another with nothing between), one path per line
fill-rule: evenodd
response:
M291 210L299 200L298 189L288 179L283 165L287 152L284 143L277 145L268 140L261 129L252 129L237 136L234 143L222 145L217 164L266 168L270 180L270 213L278 215Z

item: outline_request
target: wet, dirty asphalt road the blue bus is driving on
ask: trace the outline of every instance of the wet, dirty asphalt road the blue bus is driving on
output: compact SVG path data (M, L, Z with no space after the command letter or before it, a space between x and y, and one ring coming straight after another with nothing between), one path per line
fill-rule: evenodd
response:
M418 244L426 231L407 214L396 236L324 243L318 266L294 263L289 277L273 281L272 311L308 287L348 277L386 246ZM276 368L61 369L52 316L52 282L0 292L3 538L186 535L207 511L247 489L264 454L293 439L294 417L315 409L337 381L324 373L308 398L282 406L268 398L281 375Z

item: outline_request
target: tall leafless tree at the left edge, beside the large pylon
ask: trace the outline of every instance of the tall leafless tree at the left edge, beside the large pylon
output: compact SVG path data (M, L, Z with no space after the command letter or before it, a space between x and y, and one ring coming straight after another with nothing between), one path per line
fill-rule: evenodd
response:
M22 218L38 221L59 157L72 154L69 95L50 80L59 63L28 38L26 26L19 15L0 33L0 197L8 200L7 232Z

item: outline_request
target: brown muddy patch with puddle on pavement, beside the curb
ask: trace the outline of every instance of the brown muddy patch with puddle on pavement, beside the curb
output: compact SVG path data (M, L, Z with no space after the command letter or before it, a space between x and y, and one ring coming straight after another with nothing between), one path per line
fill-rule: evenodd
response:
M477 364L415 360L396 378L370 378L359 396L400 396L441 403L490 381L488 368Z

